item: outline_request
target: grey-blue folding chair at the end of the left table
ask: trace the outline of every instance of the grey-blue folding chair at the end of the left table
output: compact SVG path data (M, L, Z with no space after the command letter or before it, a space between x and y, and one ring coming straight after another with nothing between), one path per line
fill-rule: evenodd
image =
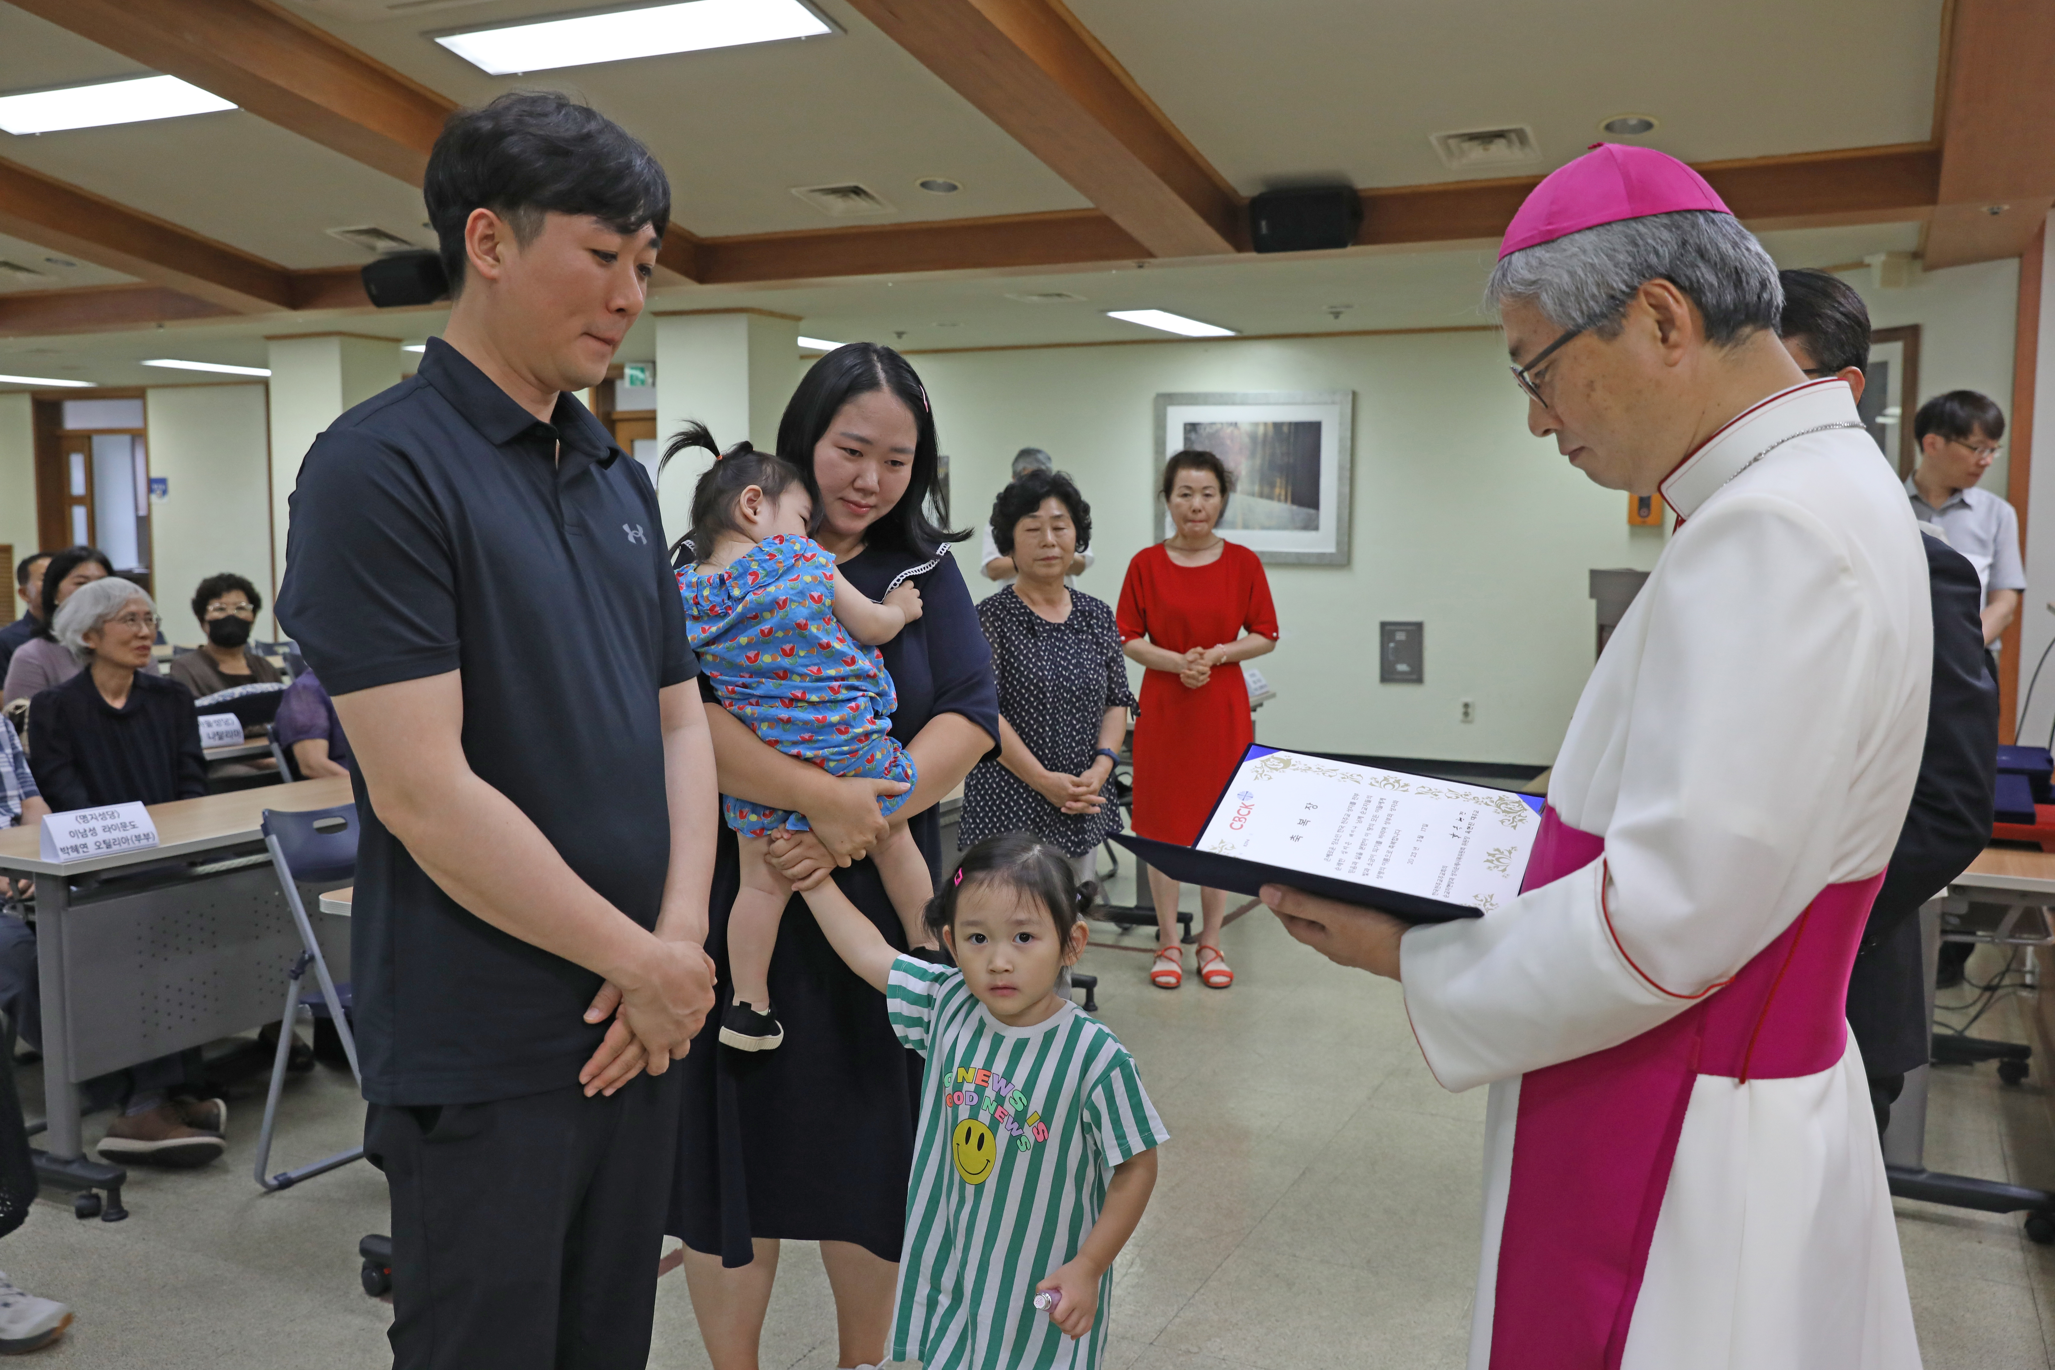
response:
M325 1160L302 1165L296 1171L265 1175L265 1165L271 1160L271 1134L277 1128L277 1099L286 1087L286 1062L292 1056L292 1023L302 1002L310 1006L319 1002L319 1009L327 1011L335 1035L341 1037L343 1056L349 1058L349 1072L358 1078L358 1089L364 1087L364 1072L358 1068L358 1041L349 1031L349 984L345 982L337 988L335 978L329 976L329 959L321 953L321 943L314 939L314 924L306 916L306 904L300 902L300 881L345 885L356 879L358 805L339 803L333 809L306 809L298 813L265 809L263 844L271 852L271 867L277 871L279 889L286 891L286 906L292 910L292 922L300 930L300 955L294 959L292 969L286 972L286 1013L277 1033L277 1054L271 1060L271 1091L263 1103L263 1128L257 1134L255 1175L257 1183L269 1191L288 1189L302 1179L325 1175L364 1156L362 1146L351 1146L345 1152L335 1152ZM319 1000L302 992L300 982L308 967L314 969L314 978L321 984Z

